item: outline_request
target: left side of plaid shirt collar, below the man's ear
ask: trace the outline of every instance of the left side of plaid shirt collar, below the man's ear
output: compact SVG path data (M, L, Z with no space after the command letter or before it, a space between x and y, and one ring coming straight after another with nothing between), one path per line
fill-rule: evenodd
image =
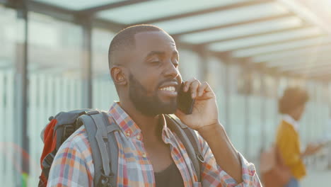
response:
M127 137L135 137L141 132L138 125L134 123L134 120L123 110L119 103L112 103L108 113L112 115L115 123L120 126L120 130L122 130Z

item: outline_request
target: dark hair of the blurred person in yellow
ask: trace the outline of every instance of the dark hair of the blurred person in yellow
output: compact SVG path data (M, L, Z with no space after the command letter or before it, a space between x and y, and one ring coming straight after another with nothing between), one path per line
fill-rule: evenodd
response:
M289 87L284 91L278 102L278 111L281 114L288 114L298 106L306 104L309 96L306 90L300 87Z

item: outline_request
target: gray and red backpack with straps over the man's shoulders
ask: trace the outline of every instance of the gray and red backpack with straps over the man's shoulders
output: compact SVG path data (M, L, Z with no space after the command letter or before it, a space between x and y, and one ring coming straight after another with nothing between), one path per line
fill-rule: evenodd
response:
M88 142L94 164L94 186L116 186L118 147L114 132L120 130L106 111L82 109L60 112L51 116L44 130L42 140L44 148L40 157L42 172L38 186L47 186L53 159L62 143L82 125L86 128ZM178 118L165 115L168 127L178 135L189 155L198 181L201 181L200 164L204 162L197 135L191 128L180 122Z

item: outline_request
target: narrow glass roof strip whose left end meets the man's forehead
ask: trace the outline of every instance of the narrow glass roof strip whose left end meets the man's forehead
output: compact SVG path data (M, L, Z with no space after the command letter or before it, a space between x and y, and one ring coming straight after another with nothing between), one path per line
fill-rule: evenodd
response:
M207 30L199 33L181 35L180 40L198 44L201 42L211 42L213 40L224 40L227 38L236 38L241 35L250 35L255 33L264 33L272 30L294 28L300 26L302 21L297 17L281 18L274 21L264 21L260 23L249 23L243 26L233 26L229 28L220 28Z

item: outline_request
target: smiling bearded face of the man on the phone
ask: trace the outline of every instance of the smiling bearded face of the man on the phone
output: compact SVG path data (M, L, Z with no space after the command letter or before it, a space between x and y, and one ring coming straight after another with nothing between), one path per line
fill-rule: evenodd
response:
M128 64L129 98L144 115L175 113L182 81L173 38L160 31L135 35Z

